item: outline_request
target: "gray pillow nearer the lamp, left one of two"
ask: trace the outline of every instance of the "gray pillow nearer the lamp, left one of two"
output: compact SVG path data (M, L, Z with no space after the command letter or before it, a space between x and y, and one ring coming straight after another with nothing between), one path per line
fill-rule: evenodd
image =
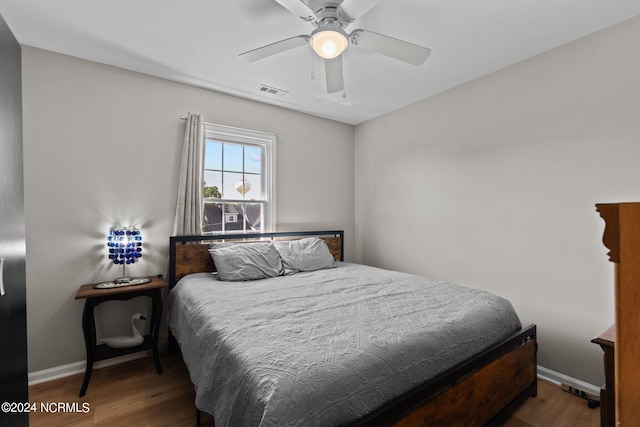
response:
M218 278L228 282L265 279L283 273L278 251L269 243L213 244L209 249Z

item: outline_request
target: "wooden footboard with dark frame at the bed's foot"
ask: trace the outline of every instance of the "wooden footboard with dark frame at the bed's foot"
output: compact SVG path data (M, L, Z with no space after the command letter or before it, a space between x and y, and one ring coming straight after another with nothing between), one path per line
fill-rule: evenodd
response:
M537 394L536 326L372 412L354 426L498 425Z

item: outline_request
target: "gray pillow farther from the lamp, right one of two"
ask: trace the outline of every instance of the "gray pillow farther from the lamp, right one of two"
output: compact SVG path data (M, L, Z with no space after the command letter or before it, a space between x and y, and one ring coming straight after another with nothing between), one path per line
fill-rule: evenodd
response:
M278 241L274 245L282 258L285 274L333 268L336 262L327 243L317 237Z

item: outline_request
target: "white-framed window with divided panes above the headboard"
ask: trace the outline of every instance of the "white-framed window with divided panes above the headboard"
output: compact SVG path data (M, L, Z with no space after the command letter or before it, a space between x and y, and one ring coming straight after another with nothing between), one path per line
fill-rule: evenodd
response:
M274 229L273 134L205 124L205 233Z

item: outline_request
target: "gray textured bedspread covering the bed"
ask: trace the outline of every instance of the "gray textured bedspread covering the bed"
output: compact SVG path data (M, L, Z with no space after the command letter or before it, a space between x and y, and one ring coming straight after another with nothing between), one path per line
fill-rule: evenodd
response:
M496 295L357 264L171 291L196 406L225 426L357 420L520 329Z

